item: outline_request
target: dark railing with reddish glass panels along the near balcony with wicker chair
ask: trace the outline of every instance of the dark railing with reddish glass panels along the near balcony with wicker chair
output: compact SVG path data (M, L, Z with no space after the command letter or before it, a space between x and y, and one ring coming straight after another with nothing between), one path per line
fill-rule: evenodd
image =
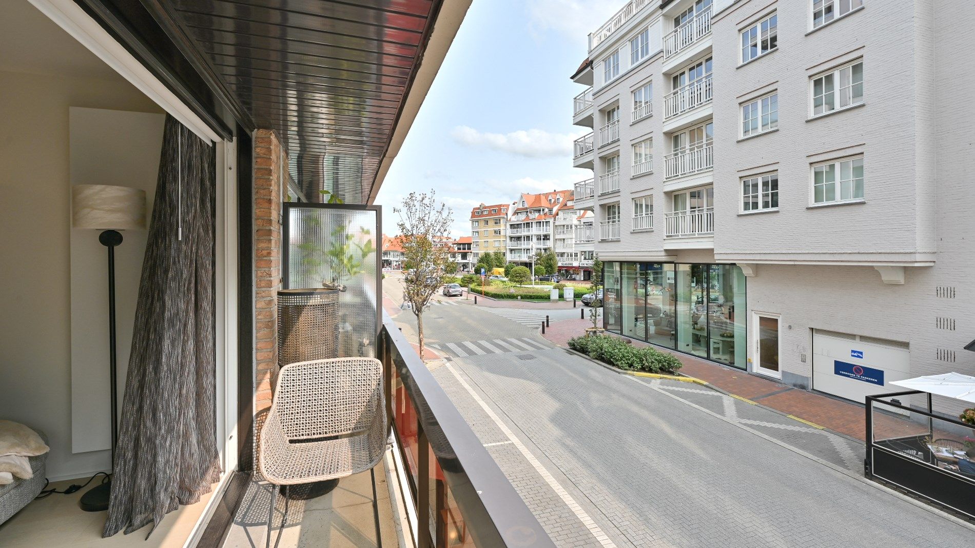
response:
M508 482L420 360L409 341L383 314L378 337L386 412L399 442L418 546L554 547L555 544ZM453 535L460 535L456 538Z

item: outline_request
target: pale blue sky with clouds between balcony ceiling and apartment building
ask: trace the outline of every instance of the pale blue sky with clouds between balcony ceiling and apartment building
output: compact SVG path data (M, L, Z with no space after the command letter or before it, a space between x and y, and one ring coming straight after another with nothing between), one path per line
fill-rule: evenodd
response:
M572 188L592 177L572 167L569 80L587 36L625 0L474 0L440 72L383 181L383 232L411 191L436 193L452 209L453 236L470 236L470 211L523 192Z

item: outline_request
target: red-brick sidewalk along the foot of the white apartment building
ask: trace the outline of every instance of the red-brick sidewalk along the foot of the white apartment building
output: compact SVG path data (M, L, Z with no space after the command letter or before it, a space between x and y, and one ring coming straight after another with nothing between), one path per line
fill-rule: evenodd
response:
M545 330L543 337L556 345L565 347L570 338L583 334L585 329L592 327L592 325L593 322L588 318L553 322ZM641 341L631 341L638 347L651 346ZM724 366L683 352L664 347L655 348L676 355L683 363L681 373L684 375L706 381L716 388L745 398L751 403L761 404L764 407L859 440L866 439L865 412L862 406L750 375L740 369Z

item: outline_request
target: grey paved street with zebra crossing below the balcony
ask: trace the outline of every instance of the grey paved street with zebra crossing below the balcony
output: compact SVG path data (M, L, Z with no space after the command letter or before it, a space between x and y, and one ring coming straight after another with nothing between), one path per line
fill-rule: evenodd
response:
M396 280L384 285L395 302ZM424 313L428 347L443 358L429 367L560 546L975 539L864 480L863 446L852 439L704 386L620 375L538 335L539 316L577 318L577 310L448 302ZM415 341L412 313L395 320Z

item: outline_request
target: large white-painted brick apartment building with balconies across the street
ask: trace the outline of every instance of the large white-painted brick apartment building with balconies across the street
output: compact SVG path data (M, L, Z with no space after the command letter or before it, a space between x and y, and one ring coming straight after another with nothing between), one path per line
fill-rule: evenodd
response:
M606 328L860 402L975 375L972 20L936 0L623 6L572 76Z

